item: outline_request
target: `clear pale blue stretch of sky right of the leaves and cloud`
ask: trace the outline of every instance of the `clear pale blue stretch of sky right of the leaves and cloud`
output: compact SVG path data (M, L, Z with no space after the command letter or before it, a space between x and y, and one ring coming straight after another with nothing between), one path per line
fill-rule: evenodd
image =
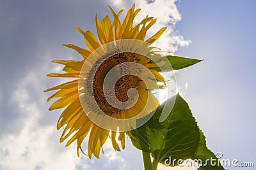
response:
M180 1L176 25L191 39L176 53L204 61L178 74L210 148L226 159L256 160L254 1Z

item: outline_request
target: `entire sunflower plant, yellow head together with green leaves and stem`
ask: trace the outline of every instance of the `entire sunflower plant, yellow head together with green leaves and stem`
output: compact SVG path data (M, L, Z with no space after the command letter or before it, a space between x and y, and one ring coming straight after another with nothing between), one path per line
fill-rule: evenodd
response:
M159 163L171 166L166 164L170 158L201 159L205 162L203 166L213 167L205 158L218 159L207 148L204 133L188 103L177 94L173 71L202 60L164 56L152 43L166 27L145 39L156 18L147 16L134 24L140 11L134 8L135 4L123 22L120 22L123 10L116 14L110 8L113 22L108 16L99 21L96 15L99 40L91 31L77 27L88 48L64 46L76 50L83 60L52 61L63 64L66 73L47 76L75 78L45 90L58 90L47 99L59 98L49 110L65 108L57 124L57 129L64 127L60 142L67 140L69 146L77 141L77 156L81 151L91 159L92 155L99 158L108 138L115 150L120 151L120 146L124 149L127 134L132 145L142 151L145 170L156 170ZM164 101L161 105L160 99ZM82 149L86 136L87 153ZM218 165L218 169L223 167Z

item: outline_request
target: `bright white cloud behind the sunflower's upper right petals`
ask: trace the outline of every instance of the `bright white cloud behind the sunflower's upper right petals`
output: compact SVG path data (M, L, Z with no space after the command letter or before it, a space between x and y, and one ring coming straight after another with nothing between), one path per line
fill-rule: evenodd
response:
M136 16L136 23L147 15L157 18L156 24L148 31L148 36L152 36L162 27L168 26L168 29L156 41L155 45L161 48L161 50L171 53L177 52L179 46L188 46L189 43L191 43L190 40L185 40L183 36L179 34L179 31L175 30L175 24L181 20L181 15L175 4L176 1L177 0L157 0L151 1L152 3L148 3L148 1L145 0L136 1L136 8L141 8L140 13ZM132 4L131 2L121 3L120 1L114 0L112 0L112 2L115 8L119 10L124 8L124 5L126 8L131 8Z

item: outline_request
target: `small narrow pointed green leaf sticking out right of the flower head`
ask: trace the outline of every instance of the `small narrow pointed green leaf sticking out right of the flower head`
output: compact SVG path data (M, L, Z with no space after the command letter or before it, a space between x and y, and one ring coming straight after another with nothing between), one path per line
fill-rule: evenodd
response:
M184 69L186 67L193 66L194 64L201 62L202 60L167 55L167 56L161 57L160 60L157 62L163 62L163 61L166 62L164 66L155 67L153 69L155 69L156 71L163 71L163 72L172 71L172 69L173 70ZM172 68L170 67L170 64L172 65Z

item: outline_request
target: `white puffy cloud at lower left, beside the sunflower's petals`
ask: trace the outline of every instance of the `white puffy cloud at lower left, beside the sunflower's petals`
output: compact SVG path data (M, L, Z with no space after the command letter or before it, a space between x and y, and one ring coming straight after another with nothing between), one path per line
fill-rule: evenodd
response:
M45 113L36 96L29 96L31 89L42 87L40 78L29 73L19 82L12 94L12 104L19 108L20 124L24 124L19 134L5 134L0 140L1 169L76 169L79 159L76 148L64 148L58 143L55 125L39 123ZM30 92L29 92L30 91ZM42 93L42 91L41 91ZM36 94L36 92L35 92ZM16 125L13 124L13 128ZM19 130L19 129L17 129Z

